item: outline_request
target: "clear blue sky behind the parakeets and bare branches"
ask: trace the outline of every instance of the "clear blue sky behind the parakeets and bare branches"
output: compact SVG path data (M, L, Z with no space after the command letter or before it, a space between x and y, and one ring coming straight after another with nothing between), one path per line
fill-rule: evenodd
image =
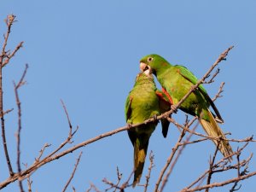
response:
M27 84L20 89L21 161L28 165L44 143L52 144L46 151L49 153L67 137L67 119L60 99L66 103L73 125L79 125L73 144L125 125L125 98L139 72L140 58L150 53L189 67L201 78L224 49L235 45L228 60L220 64L221 73L215 83L206 88L214 96L219 84L226 83L224 97L216 102L225 120L224 131L232 132L237 139L255 135L255 1L5 0L0 6L0 37L5 32L3 20L11 13L18 22L12 29L8 48L25 41L24 48L4 67L3 73L4 108L15 108L5 118L14 166L17 119L12 81L20 78L26 63L29 64ZM3 38L0 42L2 45ZM173 117L183 123L184 113L178 112ZM202 132L201 127L198 131ZM174 125L166 139L160 129L154 132L148 151L154 151L156 166L149 191L154 188L177 136ZM236 149L237 143L232 146ZM90 182L99 189L108 188L102 178L116 181L116 166L125 179L131 173L133 149L126 132L121 132L39 169L32 175L33 191L60 191L81 150L84 154L71 183L77 191L87 189ZM183 189L204 172L213 151L211 142L186 148L166 191ZM241 157L246 158L252 152L256 152L255 144L250 144ZM3 181L8 171L2 148L0 154ZM250 171L256 170L255 160L253 157ZM148 162L145 171L147 166ZM236 172L227 177L236 177ZM213 177L213 181L227 177ZM255 183L256 177L242 182L240 191L254 190ZM230 186L212 191L228 189ZM18 190L17 183L3 189Z

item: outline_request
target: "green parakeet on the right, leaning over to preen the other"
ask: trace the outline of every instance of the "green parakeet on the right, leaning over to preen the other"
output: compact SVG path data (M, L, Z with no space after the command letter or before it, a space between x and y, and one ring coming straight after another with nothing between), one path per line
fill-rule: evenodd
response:
M166 90L166 95L171 104L177 104L189 92L191 86L197 83L195 75L186 67L172 66L160 55L143 57L140 61L140 68L142 71L147 70L149 73L154 73L163 90ZM210 106L216 115L210 111ZM223 131L218 126L218 123L223 123L224 121L202 84L189 95L180 106L180 109L185 113L197 116L208 136L226 139ZM216 140L212 139L212 141L218 145ZM218 148L224 156L233 153L228 141L221 140ZM232 159L230 158L230 160Z

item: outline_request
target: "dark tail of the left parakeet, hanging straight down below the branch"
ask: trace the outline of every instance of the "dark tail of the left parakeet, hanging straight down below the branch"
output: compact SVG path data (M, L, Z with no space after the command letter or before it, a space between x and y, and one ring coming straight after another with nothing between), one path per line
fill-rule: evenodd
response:
M143 167L148 150L149 137L137 137L134 143L134 180L132 187L135 187L143 174Z

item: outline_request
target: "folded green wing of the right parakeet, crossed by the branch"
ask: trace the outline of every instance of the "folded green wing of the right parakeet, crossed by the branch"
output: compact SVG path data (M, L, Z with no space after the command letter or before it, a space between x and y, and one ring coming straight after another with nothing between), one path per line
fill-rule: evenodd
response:
M195 77L193 73L189 71L186 67L183 66L175 66L179 69L179 73L183 76L184 79L189 80L192 84L196 84L198 79ZM211 97L207 94L207 90L203 87L202 84L198 86L198 90L201 94L205 97L206 101L212 106L214 112L216 113L218 120L220 123L223 123L224 120L222 119L220 113L218 112L218 108L215 106L214 102L212 102Z

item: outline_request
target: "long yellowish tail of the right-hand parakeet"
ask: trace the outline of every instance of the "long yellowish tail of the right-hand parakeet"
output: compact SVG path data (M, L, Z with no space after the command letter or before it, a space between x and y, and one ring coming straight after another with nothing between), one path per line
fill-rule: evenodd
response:
M216 120L214 119L211 111L208 109L207 111L208 116L210 118L210 122L208 122L205 119L199 119L202 127L204 128L204 130L207 132L207 135L210 137L220 137L223 139L226 139L223 131L220 129L220 127L218 126ZM220 139L221 139L220 138ZM230 154L233 153L233 150L230 146L230 143L226 140L220 140L220 143L218 144L218 141L215 139L212 139L212 142L215 143L215 145L218 146L218 149L220 150L220 152L224 155L224 157L229 156ZM232 157L229 158L229 160L232 160Z

